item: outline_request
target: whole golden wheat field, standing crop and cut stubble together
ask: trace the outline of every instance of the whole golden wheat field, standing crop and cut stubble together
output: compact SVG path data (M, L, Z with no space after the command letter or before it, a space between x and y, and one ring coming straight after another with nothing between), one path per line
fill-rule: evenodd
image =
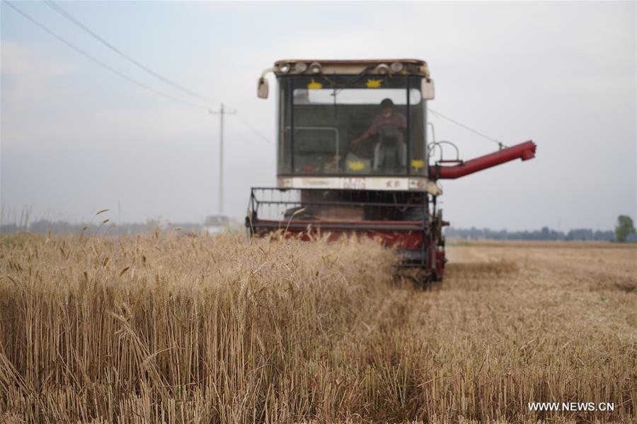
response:
M0 423L637 420L633 247L449 246L422 290L372 240L0 242Z

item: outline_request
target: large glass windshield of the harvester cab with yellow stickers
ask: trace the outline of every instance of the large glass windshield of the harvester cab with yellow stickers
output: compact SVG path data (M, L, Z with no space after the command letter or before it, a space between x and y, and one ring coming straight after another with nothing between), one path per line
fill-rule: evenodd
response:
M425 175L418 76L279 78L279 175Z

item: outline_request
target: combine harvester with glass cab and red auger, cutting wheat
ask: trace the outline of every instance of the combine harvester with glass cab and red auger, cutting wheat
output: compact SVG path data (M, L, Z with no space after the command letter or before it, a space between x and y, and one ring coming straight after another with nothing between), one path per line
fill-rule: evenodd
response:
M250 235L379 237L397 249L401 266L425 271L422 283L441 281L449 223L436 207L437 180L535 155L527 141L466 162L444 160L442 143L452 143L427 141L434 87L425 61L277 61L259 78L260 98L268 98L269 72L278 82L277 187L251 189Z

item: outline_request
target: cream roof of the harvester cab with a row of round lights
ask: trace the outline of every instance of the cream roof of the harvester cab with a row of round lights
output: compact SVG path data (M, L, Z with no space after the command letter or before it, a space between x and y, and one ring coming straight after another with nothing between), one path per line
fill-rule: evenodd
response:
M275 61L274 73L277 76L312 74L310 69L314 64L320 66L318 73L359 74L367 70L370 74L400 73L429 78L427 62L420 59L282 59ZM286 65L287 72L283 71Z

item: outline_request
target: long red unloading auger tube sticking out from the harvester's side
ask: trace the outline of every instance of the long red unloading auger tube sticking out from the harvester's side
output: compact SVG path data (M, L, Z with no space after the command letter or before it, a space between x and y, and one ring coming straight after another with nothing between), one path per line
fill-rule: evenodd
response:
M509 162L510 160L518 158L522 160L529 160L535 158L535 148L535 143L529 140L524 143L516 144L515 146L503 148L502 150L494 153L489 153L488 155L480 156L479 158L467 160L459 165L431 166L429 168L429 177L431 179L455 179L473 174L474 172L484 170L488 167Z

